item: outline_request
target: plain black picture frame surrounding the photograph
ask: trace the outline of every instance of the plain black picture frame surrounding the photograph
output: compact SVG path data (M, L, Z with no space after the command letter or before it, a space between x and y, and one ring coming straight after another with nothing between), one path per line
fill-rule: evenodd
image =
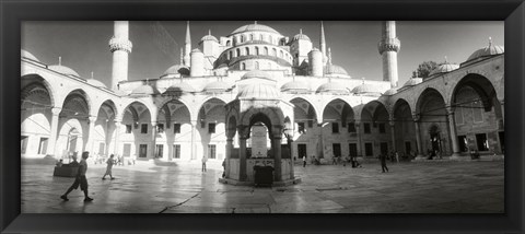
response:
M523 233L523 0L0 1L0 232ZM504 214L21 214L20 43L25 20L505 21Z

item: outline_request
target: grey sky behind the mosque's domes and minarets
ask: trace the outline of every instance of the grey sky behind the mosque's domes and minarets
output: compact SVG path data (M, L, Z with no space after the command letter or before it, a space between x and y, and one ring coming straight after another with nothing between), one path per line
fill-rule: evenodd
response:
M237 27L254 21L190 21L191 48L198 48L202 36L228 36ZM293 37L302 28L319 47L319 21L258 21L283 36ZM383 80L380 21L324 21L327 47L331 48L332 63L341 66L353 79ZM404 84L423 61L464 62L475 50L489 44L503 45L503 21L397 21L399 84ZM129 55L128 80L158 79L173 65L179 63L184 47L186 22L129 22L129 39L133 44ZM23 22L22 49L40 62L61 65L77 71L82 78L93 77L109 85L112 52L108 42L113 36L110 21Z

